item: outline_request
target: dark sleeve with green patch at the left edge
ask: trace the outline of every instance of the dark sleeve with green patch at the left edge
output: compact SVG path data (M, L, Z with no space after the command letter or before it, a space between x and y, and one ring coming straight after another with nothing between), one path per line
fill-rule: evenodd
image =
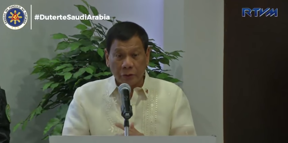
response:
M7 100L5 90L0 87L0 143L10 142L10 121L6 115L6 107Z

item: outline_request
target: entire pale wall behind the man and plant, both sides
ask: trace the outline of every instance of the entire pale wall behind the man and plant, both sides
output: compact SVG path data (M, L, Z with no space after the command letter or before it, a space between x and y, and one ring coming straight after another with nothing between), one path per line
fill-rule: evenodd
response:
M198 135L217 135L223 142L223 9L222 0L87 0L101 14L143 26L164 50L184 50L184 58L172 64L172 74L184 81L180 86L189 98ZM80 0L11 0L0 9L18 4L34 14L79 14ZM164 6L163 6L164 5ZM164 11L164 12L163 12ZM51 58L59 41L55 33L77 34L78 21L35 21L21 30L10 30L0 22L0 85L11 106L11 128L37 106L41 84L29 75L39 58ZM100 22L108 26L108 22ZM108 26L109 27L109 26ZM17 41L17 42L15 42ZM169 68L169 67L165 67ZM31 121L27 129L11 134L11 143L42 143L42 131L54 111ZM46 141L43 141L46 142Z

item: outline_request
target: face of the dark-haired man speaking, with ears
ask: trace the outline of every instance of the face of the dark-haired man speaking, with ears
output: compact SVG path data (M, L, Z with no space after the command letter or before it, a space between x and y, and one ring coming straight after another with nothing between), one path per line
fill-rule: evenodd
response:
M146 53L138 36L128 41L115 40L108 54L105 49L106 64L116 78L117 84L141 86L143 74L149 64L150 48Z

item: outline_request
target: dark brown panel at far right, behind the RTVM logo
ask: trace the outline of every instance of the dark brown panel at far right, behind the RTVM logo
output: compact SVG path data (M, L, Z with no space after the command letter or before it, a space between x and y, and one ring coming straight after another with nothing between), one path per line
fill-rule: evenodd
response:
M224 142L287 142L288 0L224 3ZM245 7L278 17L242 17Z

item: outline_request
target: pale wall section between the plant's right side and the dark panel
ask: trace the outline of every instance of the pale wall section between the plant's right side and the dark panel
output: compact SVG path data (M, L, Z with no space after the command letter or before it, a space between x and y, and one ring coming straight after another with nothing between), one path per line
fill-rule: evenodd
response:
M164 49L185 54L171 67L184 81L198 135L223 142L223 0L165 0Z

